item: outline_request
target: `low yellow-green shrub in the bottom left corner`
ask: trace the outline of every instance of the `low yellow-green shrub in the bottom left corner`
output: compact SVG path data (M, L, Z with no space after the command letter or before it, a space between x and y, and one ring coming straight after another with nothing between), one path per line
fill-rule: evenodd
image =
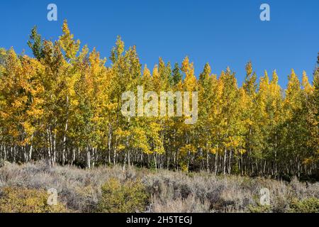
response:
M0 213L60 213L67 209L58 203L47 204L45 190L4 187L0 193Z

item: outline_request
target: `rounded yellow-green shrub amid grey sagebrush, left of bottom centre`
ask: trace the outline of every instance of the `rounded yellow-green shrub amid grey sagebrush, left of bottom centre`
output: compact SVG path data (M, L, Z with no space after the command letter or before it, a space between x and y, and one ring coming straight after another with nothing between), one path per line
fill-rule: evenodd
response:
M133 213L145 211L148 194L140 180L121 183L111 178L101 187L98 211L103 213Z

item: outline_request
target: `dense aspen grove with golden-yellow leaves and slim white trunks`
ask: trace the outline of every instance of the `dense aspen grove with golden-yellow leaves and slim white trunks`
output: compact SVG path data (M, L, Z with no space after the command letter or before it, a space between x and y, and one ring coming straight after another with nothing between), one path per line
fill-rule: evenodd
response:
M109 61L80 46L67 21L53 42L33 28L33 57L0 49L0 159L48 160L50 165L121 164L240 175L315 175L319 160L319 56L313 82L291 70L288 85L276 71L257 77L247 62L237 85L228 67L208 63L196 77L159 58L142 67L135 46L120 37ZM315 62L315 61L314 61ZM198 121L177 116L126 117L125 91L198 92Z

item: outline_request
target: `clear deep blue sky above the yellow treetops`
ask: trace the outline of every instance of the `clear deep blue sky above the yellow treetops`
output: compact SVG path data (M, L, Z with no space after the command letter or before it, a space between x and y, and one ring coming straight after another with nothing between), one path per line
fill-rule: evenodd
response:
M47 4L55 3L58 21L47 21ZM271 21L259 20L259 6L270 5ZM291 68L312 79L319 51L318 0L245 1L1 1L0 46L21 53L30 29L38 26L43 38L55 40L67 18L75 38L109 57L116 36L137 45L142 65L152 68L158 57L181 62L186 55L196 75L206 62L220 74L228 65L239 84L245 63L252 60L258 76L276 69L286 86Z

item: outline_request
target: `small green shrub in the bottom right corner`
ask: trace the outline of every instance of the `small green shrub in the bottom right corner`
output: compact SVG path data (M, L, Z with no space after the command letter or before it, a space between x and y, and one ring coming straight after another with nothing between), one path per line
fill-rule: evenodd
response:
M312 197L308 199L293 199L289 204L289 212L291 213L318 213L319 199Z

